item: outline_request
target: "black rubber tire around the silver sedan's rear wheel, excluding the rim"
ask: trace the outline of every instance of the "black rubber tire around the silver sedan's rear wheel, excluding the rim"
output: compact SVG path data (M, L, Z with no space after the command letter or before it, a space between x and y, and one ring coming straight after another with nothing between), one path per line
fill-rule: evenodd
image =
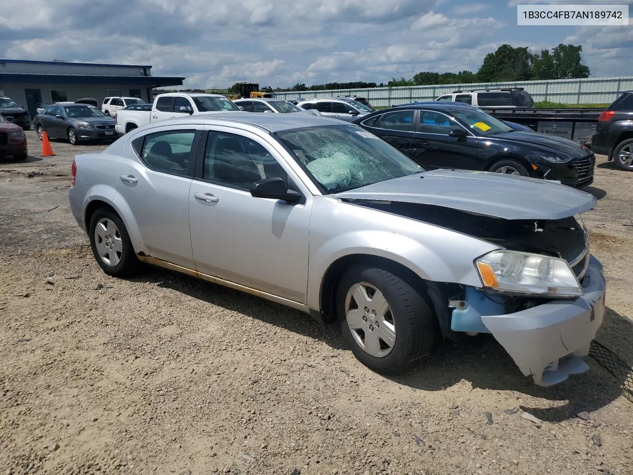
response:
M95 237L96 227L97 224L104 219L108 219L116 225L116 228L118 229L118 237L121 239L122 251L120 253L120 261L116 263L116 265L110 265L105 262L101 255L99 255L99 250L97 250L97 238ZM139 269L139 260L134 253L132 241L130 241L130 235L128 234L127 229L125 229L123 221L115 212L107 208L101 208L94 212L90 219L88 236L90 238L92 255L94 255L99 267L101 267L103 272L106 274L115 277L125 277L134 274L134 272Z

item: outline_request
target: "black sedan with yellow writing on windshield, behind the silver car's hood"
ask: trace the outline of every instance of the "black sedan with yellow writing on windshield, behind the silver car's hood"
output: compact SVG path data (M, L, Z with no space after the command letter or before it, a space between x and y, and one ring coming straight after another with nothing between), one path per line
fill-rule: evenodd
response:
M596 157L563 137L516 130L486 111L460 103L416 103L353 121L425 168L465 168L557 180L593 182Z

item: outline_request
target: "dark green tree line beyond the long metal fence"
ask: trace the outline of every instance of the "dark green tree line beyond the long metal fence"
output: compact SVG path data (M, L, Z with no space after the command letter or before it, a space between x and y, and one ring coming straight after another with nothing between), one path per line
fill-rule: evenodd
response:
M589 77L589 67L582 64L582 46L559 44L555 48L530 53L527 47L512 47L502 44L494 53L486 54L477 72L437 73L422 71L412 78L392 78L382 82L328 82L306 85L298 83L289 89L266 86L262 91L323 91L331 89L364 89L368 87L397 87L430 84L470 84L473 82L507 82L539 79L577 79Z

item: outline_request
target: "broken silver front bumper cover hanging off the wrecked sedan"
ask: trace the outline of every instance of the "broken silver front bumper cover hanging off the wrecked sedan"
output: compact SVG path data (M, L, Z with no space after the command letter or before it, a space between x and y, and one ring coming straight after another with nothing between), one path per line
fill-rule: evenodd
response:
M584 295L554 300L514 314L481 317L492 336L525 376L551 386L570 374L587 371L583 357L605 316L605 277L591 256L582 281Z

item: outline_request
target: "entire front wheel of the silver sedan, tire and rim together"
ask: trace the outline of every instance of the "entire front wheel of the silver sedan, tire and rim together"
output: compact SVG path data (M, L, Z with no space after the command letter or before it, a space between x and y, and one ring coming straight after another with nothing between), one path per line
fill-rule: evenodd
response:
M384 269L351 267L339 282L336 308L354 356L382 374L408 371L436 341L435 315L427 301Z

